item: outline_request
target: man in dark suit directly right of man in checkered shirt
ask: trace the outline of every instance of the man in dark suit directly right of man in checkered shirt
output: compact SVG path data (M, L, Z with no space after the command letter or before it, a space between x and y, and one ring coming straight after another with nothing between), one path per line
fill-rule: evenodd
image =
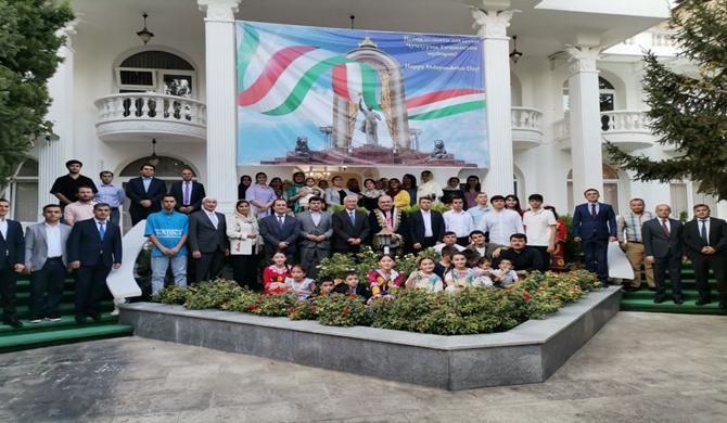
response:
M656 218L641 226L643 251L647 262L654 265L656 295L654 303L666 300L666 272L672 280L672 298L675 304L684 303L681 296L681 235L684 227L676 219L669 219L672 208L666 204L656 206Z

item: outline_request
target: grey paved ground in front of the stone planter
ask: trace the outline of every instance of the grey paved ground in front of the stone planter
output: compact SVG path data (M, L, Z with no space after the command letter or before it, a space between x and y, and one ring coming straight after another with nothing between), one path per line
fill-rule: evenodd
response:
M448 393L137 337L0 356L2 422L719 422L727 317L621 312L548 382Z

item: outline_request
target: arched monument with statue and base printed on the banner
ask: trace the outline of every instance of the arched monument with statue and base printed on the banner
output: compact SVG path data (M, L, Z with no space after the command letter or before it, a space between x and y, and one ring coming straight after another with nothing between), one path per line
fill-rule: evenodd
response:
M346 84L346 69L349 64L339 65L333 69L335 92L332 107L333 121L331 125L318 127L324 139L326 149L310 150L308 146L310 134L299 134L293 151L289 151L284 157L262 161L262 165L371 166L398 164L477 167L476 164L457 159L454 154L448 154L446 140L434 140L434 149L419 151L423 131L409 126L404 76L401 66L395 57L380 50L368 36L358 44L358 48L347 52L345 57L355 63L366 64L377 73L381 87L381 103L377 107L379 110L367 103L361 91L341 92L340 87L343 86L345 90L347 85L350 86ZM414 102L413 106L416 105ZM379 125L380 123L383 125ZM392 146L384 146L380 143L381 131L385 131L391 138Z

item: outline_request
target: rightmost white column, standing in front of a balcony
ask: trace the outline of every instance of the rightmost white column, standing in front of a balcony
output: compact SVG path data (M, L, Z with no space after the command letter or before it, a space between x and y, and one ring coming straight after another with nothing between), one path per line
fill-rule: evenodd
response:
M601 113L598 100L598 50L569 47L569 97L571 101L571 158L573 198L581 203L583 192L595 188L603 192Z

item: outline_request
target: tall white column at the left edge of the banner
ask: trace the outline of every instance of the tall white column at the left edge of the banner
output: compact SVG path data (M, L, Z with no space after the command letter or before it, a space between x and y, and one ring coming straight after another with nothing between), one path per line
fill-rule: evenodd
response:
M197 0L205 17L206 192L230 213L238 196L234 13L240 0Z

